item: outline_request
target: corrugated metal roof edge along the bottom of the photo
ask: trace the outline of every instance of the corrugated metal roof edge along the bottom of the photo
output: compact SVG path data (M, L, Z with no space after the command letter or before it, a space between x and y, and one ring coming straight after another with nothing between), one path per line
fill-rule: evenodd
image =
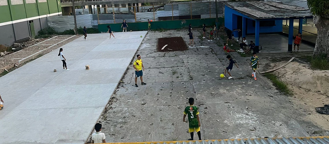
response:
M202 141L122 142L107 144L329 144L329 136L299 138L251 138Z

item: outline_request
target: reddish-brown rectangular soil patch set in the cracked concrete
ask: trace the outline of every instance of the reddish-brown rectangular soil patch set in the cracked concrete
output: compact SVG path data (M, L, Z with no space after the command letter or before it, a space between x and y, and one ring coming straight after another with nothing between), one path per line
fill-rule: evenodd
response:
M162 47L166 46L163 50ZM187 45L182 37L164 37L158 38L158 51L185 51L187 50Z

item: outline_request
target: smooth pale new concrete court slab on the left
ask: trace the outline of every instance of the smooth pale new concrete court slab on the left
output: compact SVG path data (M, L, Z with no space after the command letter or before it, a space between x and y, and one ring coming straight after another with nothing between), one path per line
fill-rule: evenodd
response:
M88 34L61 47L70 71L56 49L0 77L0 143L84 143L146 33Z

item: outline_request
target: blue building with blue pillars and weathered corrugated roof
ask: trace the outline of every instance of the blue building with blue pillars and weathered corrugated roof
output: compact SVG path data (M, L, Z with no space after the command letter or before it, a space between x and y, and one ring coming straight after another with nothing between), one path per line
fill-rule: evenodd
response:
M225 27L242 30L242 37L255 35L256 52L259 51L259 35L282 32L282 21L289 20L288 51L292 51L293 20L299 19L302 33L303 19L312 18L307 8L288 5L279 1L223 2L225 5ZM238 35L235 31L234 35Z

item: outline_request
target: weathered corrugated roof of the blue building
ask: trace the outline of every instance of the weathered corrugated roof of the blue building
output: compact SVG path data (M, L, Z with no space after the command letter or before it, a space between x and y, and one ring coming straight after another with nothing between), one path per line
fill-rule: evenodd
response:
M304 7L292 6L279 1L239 1L239 2L223 2L226 6L233 10L253 18L286 18L286 17L311 17L311 11ZM242 8L242 9L241 9ZM248 9L244 9L248 8ZM275 10L274 10L275 9ZM265 15L264 13L268 14ZM270 17L270 15L274 17Z

